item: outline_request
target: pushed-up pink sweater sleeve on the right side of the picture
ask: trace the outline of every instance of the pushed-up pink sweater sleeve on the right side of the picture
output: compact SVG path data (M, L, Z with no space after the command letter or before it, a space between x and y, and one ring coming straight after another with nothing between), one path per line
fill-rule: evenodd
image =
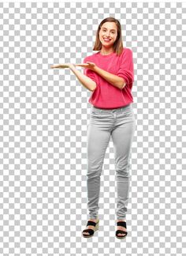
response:
M123 77L126 81L126 85L128 88L132 88L132 83L134 81L134 64L132 58L132 50L128 48L123 55L121 66L117 71L118 77Z

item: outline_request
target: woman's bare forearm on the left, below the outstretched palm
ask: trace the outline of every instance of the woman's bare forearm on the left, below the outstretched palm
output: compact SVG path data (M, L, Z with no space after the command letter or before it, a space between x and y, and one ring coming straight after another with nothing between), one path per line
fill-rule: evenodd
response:
M93 92L96 88L95 81L92 81L91 78L85 76L83 73L81 73L79 70L76 69L75 66L70 67L70 70L73 71L73 73L76 75L77 79L80 81L82 85L84 85L85 88L87 88L89 91Z

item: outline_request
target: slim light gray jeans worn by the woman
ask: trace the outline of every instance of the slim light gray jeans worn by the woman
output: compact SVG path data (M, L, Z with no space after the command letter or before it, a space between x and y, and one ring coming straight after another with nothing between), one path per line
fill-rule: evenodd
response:
M106 148L113 141L117 180L117 220L126 216L130 183L130 156L136 119L132 104L114 109L91 106L87 125L87 207L89 219L98 218L100 175Z

